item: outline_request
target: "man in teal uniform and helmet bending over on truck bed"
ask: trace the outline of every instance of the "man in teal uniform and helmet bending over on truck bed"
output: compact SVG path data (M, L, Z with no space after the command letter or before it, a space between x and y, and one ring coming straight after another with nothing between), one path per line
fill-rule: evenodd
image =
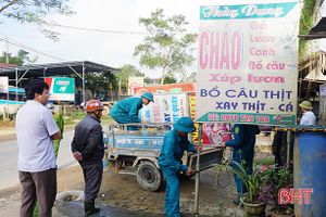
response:
M154 102L151 92L145 92L140 98L127 98L115 103L110 112L111 117L118 124L140 123L138 112L142 104ZM127 126L128 130L137 130L135 126Z

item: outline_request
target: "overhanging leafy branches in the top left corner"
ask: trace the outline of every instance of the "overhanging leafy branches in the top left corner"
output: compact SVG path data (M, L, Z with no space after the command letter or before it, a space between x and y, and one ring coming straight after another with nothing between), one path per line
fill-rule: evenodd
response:
M68 0L0 0L0 15L14 18L22 24L33 23L49 38L58 40L59 33L48 29L53 22L47 15L72 15L74 12L66 5Z

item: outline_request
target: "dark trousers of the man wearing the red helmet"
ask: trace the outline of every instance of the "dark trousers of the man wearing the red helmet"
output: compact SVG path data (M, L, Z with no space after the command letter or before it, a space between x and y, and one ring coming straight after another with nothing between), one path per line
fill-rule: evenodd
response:
M99 162L91 165L82 165L82 169L85 180L85 202L95 201L101 188L103 164Z

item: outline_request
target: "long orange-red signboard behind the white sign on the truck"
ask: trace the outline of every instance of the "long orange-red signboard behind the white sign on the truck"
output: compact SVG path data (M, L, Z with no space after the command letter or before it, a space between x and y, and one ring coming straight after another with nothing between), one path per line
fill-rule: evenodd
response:
M134 88L135 93L140 95L147 91L152 93L180 93L180 92L195 92L195 82L179 82L179 84L168 84L168 85L156 85L156 86L146 86Z

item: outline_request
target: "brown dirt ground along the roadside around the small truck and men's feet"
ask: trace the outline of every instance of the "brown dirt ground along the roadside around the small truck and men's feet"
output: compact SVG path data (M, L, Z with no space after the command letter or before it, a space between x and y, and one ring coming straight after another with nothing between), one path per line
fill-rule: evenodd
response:
M145 212L148 214L163 214L164 212L164 190L158 192L147 192L139 188L136 177L133 175L121 175L113 170L104 171L98 204L108 205L115 208L131 212ZM218 187L213 190L213 179L215 170L210 169L201 174L200 182L200 214L208 216L241 216L233 203L235 191L233 179L227 187ZM222 179L226 178L226 174ZM222 180L221 179L221 180ZM222 180L223 181L223 180ZM58 171L58 192L83 190L84 180L79 166L71 167ZM195 179L184 180L180 189L180 210L181 213L192 213ZM0 192L0 214L4 216L5 210L20 206L20 186ZM1 213L2 210L2 213ZM228 214L226 213L228 212ZM3 215L4 214L4 215ZM10 215L7 215L10 216Z

